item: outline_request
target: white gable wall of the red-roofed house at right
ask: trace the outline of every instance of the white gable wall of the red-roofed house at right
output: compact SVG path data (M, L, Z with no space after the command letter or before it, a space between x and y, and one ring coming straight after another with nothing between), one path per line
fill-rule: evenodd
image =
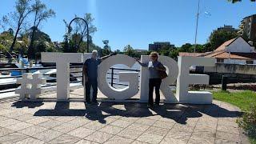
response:
M254 51L254 46L250 46L243 38L239 37L230 46L226 46L226 51L251 53Z

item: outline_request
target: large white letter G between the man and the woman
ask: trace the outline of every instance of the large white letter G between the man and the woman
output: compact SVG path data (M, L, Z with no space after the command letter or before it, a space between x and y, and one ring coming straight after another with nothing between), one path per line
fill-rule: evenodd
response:
M98 67L98 89L102 94L108 98L114 98L116 100L124 100L133 97L138 93L138 73L137 72L120 72L119 81L129 82L129 86L123 89L115 89L106 82L106 73L111 66L116 64L123 64L126 66L133 66L135 63L134 58L127 55L115 55L110 58L106 58Z

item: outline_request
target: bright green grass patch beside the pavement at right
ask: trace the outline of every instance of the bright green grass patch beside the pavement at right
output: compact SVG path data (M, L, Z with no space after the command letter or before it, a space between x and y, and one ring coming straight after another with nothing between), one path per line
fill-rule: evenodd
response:
M248 110L250 104L256 105L256 93L250 90L235 93L217 91L213 92L213 94L214 99L238 106L242 111Z

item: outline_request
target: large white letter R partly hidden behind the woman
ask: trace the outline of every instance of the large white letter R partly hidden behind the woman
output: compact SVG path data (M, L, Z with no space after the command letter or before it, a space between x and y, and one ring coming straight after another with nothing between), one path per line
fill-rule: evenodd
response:
M147 63L150 61L149 55L142 55L141 62ZM178 77L178 65L177 62L174 61L173 58L166 56L159 56L159 61L162 62L164 66L166 66L168 77L162 80L162 84L160 90L162 94L166 98L166 102L177 102L177 98L175 98L173 92L170 89L170 85L176 82ZM141 77L140 77L140 100L142 102L146 102L148 100L149 95L149 70L147 67L141 67Z

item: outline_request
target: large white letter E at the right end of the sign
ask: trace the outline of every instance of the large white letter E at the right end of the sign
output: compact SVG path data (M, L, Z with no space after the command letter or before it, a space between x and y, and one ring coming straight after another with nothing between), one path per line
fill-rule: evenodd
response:
M190 66L214 66L214 58L178 57L176 97L181 103L210 104L212 94L207 91L188 91L189 84L209 84L209 75L190 74Z

